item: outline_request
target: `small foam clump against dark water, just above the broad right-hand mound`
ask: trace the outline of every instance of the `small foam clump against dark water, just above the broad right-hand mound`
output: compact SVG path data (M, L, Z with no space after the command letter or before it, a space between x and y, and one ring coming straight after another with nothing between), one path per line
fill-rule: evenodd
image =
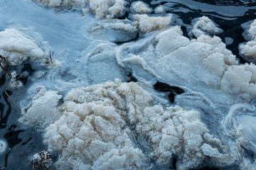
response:
M196 18L196 20L193 20L192 23L194 23L192 33L196 36L196 38L206 33L210 35L215 35L223 32L223 30L218 28L217 24L211 21L210 18L208 18L207 16Z

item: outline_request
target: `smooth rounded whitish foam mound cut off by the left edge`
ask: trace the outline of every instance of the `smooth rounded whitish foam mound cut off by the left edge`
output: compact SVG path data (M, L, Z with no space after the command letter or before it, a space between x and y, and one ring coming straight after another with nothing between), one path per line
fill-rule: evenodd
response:
M7 64L16 66L26 60L36 60L45 54L31 38L18 30L6 29L0 32L0 55Z

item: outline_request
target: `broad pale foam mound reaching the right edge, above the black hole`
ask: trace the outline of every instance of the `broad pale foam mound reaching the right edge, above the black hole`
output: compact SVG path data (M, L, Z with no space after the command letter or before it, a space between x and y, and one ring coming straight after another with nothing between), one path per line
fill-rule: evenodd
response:
M179 79L194 83L201 81L226 94L243 94L247 101L256 97L255 64L238 64L235 55L215 35L211 38L203 34L196 40L189 40L182 35L179 26L174 26L157 34L144 49L134 50L137 52L134 54L129 52L122 61L129 61L129 56L136 55L146 61L143 68L153 69L152 72L157 72L166 81L176 79L176 74Z

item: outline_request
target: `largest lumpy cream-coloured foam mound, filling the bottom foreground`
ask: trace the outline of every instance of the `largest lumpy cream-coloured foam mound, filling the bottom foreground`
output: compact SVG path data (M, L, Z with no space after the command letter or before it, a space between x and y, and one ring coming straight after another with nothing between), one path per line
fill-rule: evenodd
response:
M151 102L136 83L73 89L60 107L63 115L46 128L44 142L60 152L59 169L145 169L149 156L132 143L125 119L149 138L158 164L167 164L173 154L182 159L178 169L197 166L206 156L224 157L215 148L223 148L220 140L208 133L200 113Z

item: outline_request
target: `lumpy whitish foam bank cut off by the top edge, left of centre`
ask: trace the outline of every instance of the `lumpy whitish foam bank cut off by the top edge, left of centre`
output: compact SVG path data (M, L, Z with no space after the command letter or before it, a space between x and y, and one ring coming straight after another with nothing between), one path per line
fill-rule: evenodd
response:
M97 20L114 18L124 11L124 0L37 0L48 6L80 7L82 11L92 10ZM90 8L90 9L88 9Z

